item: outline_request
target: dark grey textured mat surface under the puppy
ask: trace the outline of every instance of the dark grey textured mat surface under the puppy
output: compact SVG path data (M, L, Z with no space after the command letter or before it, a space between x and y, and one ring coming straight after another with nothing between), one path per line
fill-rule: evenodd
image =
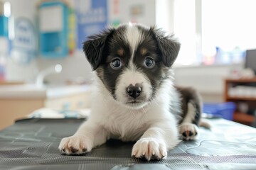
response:
M62 155L58 145L82 120L22 120L0 131L0 169L256 169L256 129L210 120L196 141L181 142L166 159L130 157L132 142L110 140L80 156ZM223 164L224 163L224 164Z

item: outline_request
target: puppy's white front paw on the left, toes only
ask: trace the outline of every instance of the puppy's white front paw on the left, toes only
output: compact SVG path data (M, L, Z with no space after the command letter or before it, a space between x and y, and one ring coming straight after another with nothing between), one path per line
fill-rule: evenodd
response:
M63 138L58 149L65 154L82 154L92 150L92 141L83 135L73 135Z

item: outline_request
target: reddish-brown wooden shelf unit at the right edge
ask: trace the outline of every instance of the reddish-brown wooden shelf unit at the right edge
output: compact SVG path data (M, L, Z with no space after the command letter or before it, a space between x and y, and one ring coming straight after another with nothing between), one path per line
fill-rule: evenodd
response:
M253 85L252 85L253 84ZM256 96L230 96L228 91L230 88L234 86L254 86L256 88L256 77L253 79L225 79L225 92L224 92L224 100L225 101L233 101L238 106L239 103L247 103L250 108L256 110ZM233 120L238 123L242 123L245 125L252 125L255 122L255 116L249 115L247 113L242 113L237 108Z

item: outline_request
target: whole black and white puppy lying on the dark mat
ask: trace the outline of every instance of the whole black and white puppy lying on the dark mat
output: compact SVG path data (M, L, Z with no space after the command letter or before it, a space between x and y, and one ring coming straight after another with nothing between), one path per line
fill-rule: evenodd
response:
M82 154L110 138L137 141L132 156L166 157L198 135L201 100L173 84L171 66L180 43L156 28L129 23L93 35L83 50L95 71L90 118L59 149ZM181 135L179 135L181 134Z

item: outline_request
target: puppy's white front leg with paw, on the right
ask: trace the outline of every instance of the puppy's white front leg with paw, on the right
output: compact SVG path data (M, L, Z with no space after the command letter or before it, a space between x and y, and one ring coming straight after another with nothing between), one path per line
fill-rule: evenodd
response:
M151 126L132 148L132 157L161 159L166 157L167 149L178 145L178 129L175 124L163 121Z

